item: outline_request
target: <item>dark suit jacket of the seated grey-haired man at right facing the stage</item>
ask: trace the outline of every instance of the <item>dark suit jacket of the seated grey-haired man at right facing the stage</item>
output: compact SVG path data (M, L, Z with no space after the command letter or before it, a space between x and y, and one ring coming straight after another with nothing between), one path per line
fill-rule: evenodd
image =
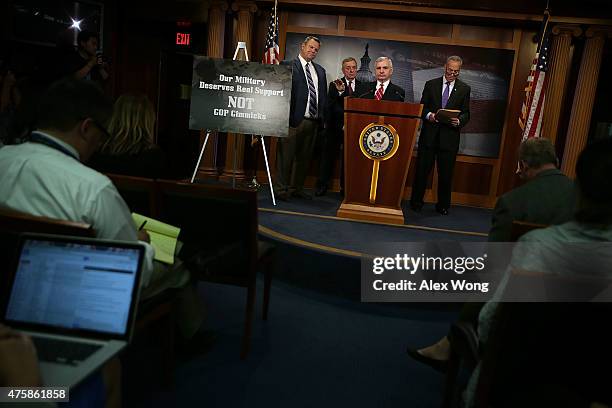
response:
M544 170L532 180L502 195L493 210L489 241L508 242L512 221L561 224L574 216L577 191L557 169Z

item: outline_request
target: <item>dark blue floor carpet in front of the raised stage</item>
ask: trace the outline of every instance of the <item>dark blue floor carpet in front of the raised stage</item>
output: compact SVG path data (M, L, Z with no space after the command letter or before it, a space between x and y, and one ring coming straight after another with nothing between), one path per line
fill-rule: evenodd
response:
M200 291L217 343L178 367L176 389L152 392L144 406L440 405L443 376L404 350L446 334L453 313L360 304L275 282L269 320L257 310L251 353L240 361L244 289L206 283Z

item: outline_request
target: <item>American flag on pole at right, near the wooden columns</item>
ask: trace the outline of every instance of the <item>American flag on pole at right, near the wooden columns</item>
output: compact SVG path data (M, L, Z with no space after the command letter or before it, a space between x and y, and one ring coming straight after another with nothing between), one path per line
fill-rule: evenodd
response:
M531 65L531 71L525 87L525 101L519 117L523 131L523 140L540 137L542 113L546 96L548 70L548 52L550 50L550 30L548 29L548 9L544 11L544 20L540 29L540 42Z

